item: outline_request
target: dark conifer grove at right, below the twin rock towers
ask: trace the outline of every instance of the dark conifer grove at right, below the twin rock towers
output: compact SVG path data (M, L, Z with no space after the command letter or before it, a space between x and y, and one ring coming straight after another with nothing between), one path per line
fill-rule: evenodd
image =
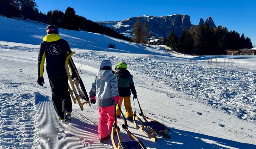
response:
M245 34L240 36L235 30L228 31L222 25L210 28L208 23L191 26L189 29L184 28L180 37L172 30L166 45L181 53L202 55L222 55L227 49L253 48L251 39L245 37Z

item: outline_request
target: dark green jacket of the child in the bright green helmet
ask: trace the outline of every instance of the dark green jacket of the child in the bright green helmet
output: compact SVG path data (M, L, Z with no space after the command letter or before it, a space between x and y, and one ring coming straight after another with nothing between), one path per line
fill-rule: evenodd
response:
M134 87L133 76L128 70L121 69L116 72L117 82L118 82L118 92L119 96L127 97L132 94L136 94Z

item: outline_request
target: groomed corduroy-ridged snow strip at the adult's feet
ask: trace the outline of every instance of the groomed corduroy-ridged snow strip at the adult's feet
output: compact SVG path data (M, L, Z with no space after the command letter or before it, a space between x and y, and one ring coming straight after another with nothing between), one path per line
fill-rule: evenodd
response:
M98 127L88 123L88 119L72 112L72 121L59 121L52 101L41 94L35 97L38 112L38 149L112 149L110 143L98 142ZM57 124L57 125L56 125Z

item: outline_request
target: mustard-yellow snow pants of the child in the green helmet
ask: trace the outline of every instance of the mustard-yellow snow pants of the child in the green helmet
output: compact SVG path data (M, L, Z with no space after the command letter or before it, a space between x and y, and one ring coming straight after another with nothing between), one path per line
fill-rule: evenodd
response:
M133 111L132 111L132 106L131 106L131 96L127 96L127 97L120 97L120 101L119 101L119 106L121 108L122 106L122 102L124 100L124 107L125 107L125 111L126 111L126 117L132 117L133 116ZM121 112L118 108L118 106L116 107L117 109L117 115L121 115Z

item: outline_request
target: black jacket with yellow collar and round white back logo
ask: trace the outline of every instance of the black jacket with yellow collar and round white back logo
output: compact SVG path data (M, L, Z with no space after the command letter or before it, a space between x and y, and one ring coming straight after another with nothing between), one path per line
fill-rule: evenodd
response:
M38 52L38 77L44 74L44 61L46 58L46 72L49 75L67 74L65 60L67 52L71 53L68 42L58 34L48 34L43 38Z

